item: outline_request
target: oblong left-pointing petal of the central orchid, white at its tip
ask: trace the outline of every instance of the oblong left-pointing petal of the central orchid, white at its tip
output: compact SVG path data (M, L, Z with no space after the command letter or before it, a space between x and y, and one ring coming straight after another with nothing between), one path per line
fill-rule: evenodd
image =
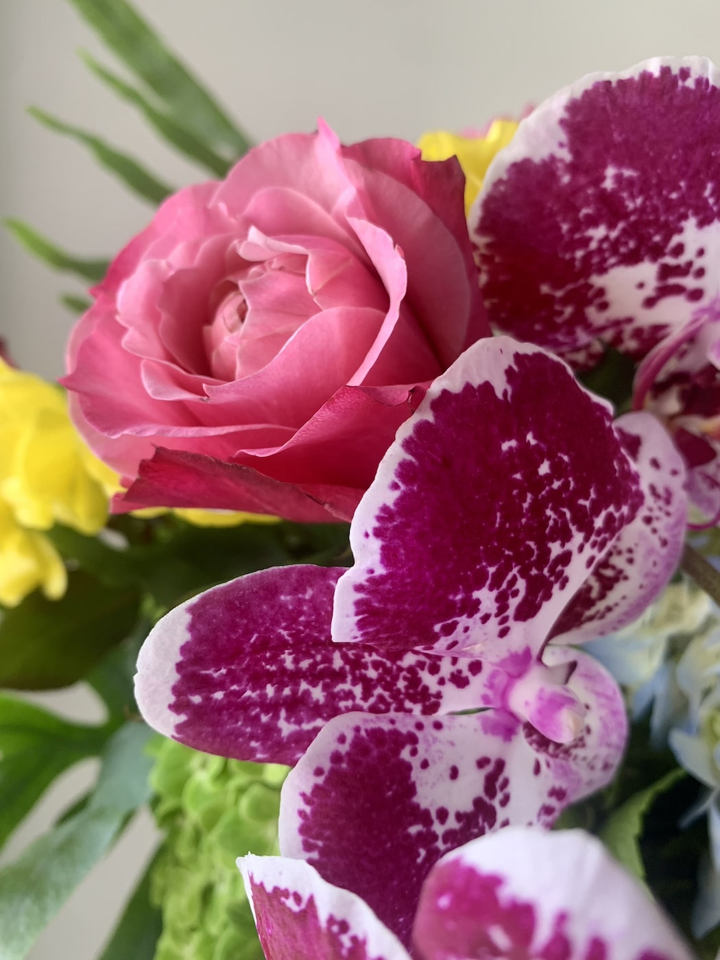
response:
M333 591L344 572L261 570L167 613L137 660L147 722L206 753L293 764L339 713L495 705L479 660L333 643Z

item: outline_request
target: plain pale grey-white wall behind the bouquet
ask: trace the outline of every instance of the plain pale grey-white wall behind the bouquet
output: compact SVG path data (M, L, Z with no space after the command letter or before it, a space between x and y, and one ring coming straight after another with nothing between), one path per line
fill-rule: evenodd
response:
M516 113L592 70L665 54L720 60L718 0L136 4L256 139L312 130L318 115L348 142L384 134L415 139L427 129ZM116 252L151 209L79 146L28 118L27 105L101 133L144 158L163 180L180 186L198 174L89 77L75 56L79 47L105 56L63 0L0 0L0 214L29 221L75 252L100 256ZM0 234L0 335L19 364L60 375L71 317L57 297L72 289ZM75 715L93 709L81 694L60 695L60 702ZM64 799L89 776L87 770L69 775ZM51 816L44 804L30 827L43 828ZM34 960L96 955L150 836L147 824L135 829L46 931Z

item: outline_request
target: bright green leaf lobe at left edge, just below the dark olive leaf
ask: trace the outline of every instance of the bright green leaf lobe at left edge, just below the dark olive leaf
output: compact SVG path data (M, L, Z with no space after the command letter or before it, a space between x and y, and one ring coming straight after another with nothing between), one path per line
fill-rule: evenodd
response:
M108 731L68 723L0 694L0 846L47 787L73 763L99 754Z

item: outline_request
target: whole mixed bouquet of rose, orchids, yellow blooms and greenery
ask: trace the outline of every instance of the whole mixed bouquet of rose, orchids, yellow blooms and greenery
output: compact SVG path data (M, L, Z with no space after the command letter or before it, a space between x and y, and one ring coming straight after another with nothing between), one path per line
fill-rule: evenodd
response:
M101 763L0 868L1 960L146 804L101 960L711 960L720 72L252 146L71 2L212 179L35 111L157 209L110 261L7 222L93 286L61 387L0 362L0 842ZM76 682L105 722L18 692Z

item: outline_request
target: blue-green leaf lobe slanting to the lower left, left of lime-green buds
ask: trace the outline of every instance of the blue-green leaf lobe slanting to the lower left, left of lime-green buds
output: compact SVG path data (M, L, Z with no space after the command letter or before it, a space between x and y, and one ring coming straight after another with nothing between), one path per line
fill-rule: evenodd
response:
M0 870L0 960L22 960L132 813L149 799L152 760L143 748L153 735L135 723L116 732L90 802Z

